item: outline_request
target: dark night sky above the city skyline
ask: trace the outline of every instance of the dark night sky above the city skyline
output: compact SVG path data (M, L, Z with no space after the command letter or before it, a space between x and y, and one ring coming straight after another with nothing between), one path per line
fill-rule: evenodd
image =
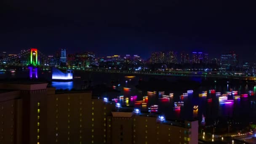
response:
M97 56L154 51L236 51L256 57L256 10L226 0L1 0L0 50L36 47L45 54L93 51Z

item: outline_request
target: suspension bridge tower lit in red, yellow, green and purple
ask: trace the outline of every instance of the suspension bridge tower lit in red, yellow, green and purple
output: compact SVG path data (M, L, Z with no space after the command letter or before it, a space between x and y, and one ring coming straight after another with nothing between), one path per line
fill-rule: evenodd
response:
M38 78L37 77L37 66L40 65L40 61L37 55L37 48L31 48L30 49L30 59L29 59L29 77L32 79Z

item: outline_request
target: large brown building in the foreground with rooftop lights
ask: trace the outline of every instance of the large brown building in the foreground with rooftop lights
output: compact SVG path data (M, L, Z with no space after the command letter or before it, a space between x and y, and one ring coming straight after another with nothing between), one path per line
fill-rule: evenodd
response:
M0 83L0 144L197 144L197 121L116 107L90 91Z

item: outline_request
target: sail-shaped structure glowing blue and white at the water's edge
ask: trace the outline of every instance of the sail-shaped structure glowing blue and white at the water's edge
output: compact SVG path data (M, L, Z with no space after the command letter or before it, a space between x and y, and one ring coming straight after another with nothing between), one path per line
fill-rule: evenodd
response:
M72 71L67 70L67 72L61 72L61 70L57 68L53 68L52 80L53 81L72 81L73 80Z

